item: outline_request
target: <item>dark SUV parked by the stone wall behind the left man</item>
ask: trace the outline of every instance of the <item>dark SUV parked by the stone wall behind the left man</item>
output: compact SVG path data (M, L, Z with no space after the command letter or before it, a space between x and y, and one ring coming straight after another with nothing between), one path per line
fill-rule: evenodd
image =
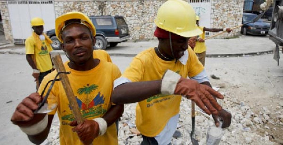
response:
M90 16L96 28L95 49L106 49L116 46L118 43L126 42L130 38L129 28L123 16ZM60 48L60 41L55 35L55 29L45 32L52 40L55 50Z

